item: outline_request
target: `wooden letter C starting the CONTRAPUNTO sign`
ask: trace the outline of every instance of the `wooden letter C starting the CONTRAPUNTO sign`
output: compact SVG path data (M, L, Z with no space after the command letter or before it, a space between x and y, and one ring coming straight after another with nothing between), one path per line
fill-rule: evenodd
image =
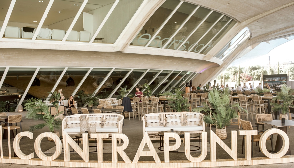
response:
M20 159L26 159L26 160L29 160L29 159L32 159L34 158L34 153L31 153L29 155L25 155L24 153L22 153L22 151L20 150L20 147L19 147L19 141L20 139L23 137L23 136L26 136L26 137L29 137L30 139L33 139L33 133L29 132L29 131L24 131L24 132L21 132L19 134L17 134L13 140L13 149L14 149L14 152L15 154L20 158Z

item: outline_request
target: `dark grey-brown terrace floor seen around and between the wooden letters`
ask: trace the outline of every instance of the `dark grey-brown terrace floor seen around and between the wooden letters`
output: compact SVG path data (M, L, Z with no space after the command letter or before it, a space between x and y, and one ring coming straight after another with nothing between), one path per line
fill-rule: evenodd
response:
M250 118L251 120L251 118ZM29 126L31 125L35 125L38 123L42 123L42 120L38 120L38 121L34 121L34 120L27 120L23 117L22 119L22 131L28 131L29 130ZM123 127L123 134L126 134L129 138L129 145L127 147L127 149L125 149L126 154L128 155L128 157L133 160L137 149L141 143L141 140L143 139L143 122L139 121L138 118L132 120L129 120L128 118L124 120L125 126ZM255 125L255 120L253 119L253 125ZM265 125L265 129L269 129L271 128L271 126ZM210 134L209 134L209 127L205 128L206 131L208 132L208 142L210 142ZM227 146L230 147L230 131L231 130L240 130L238 128L238 125L231 125L229 127L226 128L227 129L227 139L223 140L224 143L226 143ZM261 128L260 128L261 129ZM35 150L34 150L34 142L35 142L35 138L43 133L49 131L48 128L44 128L42 130L39 131L35 131L34 133L34 138L32 140L30 140L28 137L24 137L23 140L20 141L21 145L20 148L22 150L22 152L26 155L29 155L30 153L34 152L34 156L35 158L38 158L38 156L35 154ZM215 128L212 128L212 131L215 132ZM61 133L61 131L60 131ZM238 134L238 133L237 133ZM291 143L292 140L294 139L294 128L288 129L288 136L290 139L290 149L292 149L293 151L293 147L294 144ZM273 145L275 145L275 140L276 140L276 135L274 135L274 140L273 140ZM158 141L153 141L153 142L158 142ZM12 156L13 156L13 139L11 139L11 151L12 151ZM105 142L104 142L105 143ZM109 141L109 143L111 143ZM3 140L3 155L4 156L8 156L8 142L7 140ZM54 142L49 142L46 138L44 138L41 142L41 149L43 152L45 152L46 150L52 148L53 146L55 146ZM267 141L266 143L267 149L271 150L271 144L270 141ZM242 136L237 135L237 147L238 147L238 158L245 158L245 152L243 152L243 154L241 154L241 149L242 149ZM46 154L46 155L50 155L50 154ZM52 155L52 154L51 154ZM192 156L196 157L197 155L200 155L200 152L193 152L191 153ZM97 160L97 154L89 154L90 156L90 160ZM118 155L119 156L119 155ZM163 161L164 160L164 153L158 153L159 158ZM262 152L258 151L258 146L255 145L253 146L253 157L264 157L264 155L262 154ZM231 158L218 144L217 144L217 159L227 159L227 158ZM61 154L58 159L63 159L63 155ZM82 160L82 158L78 155L78 154L70 154L70 159L71 160ZM119 156L118 157L119 161L122 161L122 158ZM209 160L210 159L210 155L209 153L207 154L205 160ZM111 154L104 154L104 161L111 161L112 160L112 156ZM147 157L140 157L139 161L152 161L153 158L150 156ZM184 152L183 153L170 153L170 160L187 160ZM9 166L10 168L13 167L41 167L41 166L32 166L32 165L16 165L16 164L0 164L0 167L4 167L4 166ZM294 163L287 163L287 164L271 164L271 165L256 165L256 166L238 166L238 168L243 168L243 167L284 167L284 168L288 168L288 167L293 167L294 168Z

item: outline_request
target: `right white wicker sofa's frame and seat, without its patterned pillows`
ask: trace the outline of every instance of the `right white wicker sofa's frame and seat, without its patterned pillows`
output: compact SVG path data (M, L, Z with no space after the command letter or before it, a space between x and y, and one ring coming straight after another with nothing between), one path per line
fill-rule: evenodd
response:
M158 132L161 131L170 131L170 129L174 129L174 131L184 131L190 133L199 133L201 135L202 132L205 132L205 123L203 121L203 114L201 113L193 113L199 115L199 125L187 125L186 126L186 114L191 114L193 112L181 112L181 113L151 113L151 114L159 114L159 124L160 126L147 126L146 115L143 117L143 134L145 132L148 133L151 140L159 140ZM181 117L181 126L166 126L166 116L167 115L175 115L179 114Z

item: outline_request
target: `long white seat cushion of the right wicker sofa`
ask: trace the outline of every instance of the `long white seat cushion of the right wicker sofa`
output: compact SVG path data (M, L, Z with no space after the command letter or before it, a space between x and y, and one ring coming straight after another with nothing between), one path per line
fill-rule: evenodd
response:
M174 131L203 131L202 125L191 125L191 126L155 126L155 127L145 127L145 131L147 132L161 132L161 131L170 131L173 129Z

